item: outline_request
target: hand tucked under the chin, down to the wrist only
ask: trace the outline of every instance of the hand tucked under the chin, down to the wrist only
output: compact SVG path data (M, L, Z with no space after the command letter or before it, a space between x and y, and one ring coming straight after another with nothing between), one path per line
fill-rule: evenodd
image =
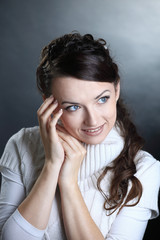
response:
M65 159L60 170L58 183L60 187L77 184L80 165L86 155L86 149L67 131L57 125L57 133L65 152Z

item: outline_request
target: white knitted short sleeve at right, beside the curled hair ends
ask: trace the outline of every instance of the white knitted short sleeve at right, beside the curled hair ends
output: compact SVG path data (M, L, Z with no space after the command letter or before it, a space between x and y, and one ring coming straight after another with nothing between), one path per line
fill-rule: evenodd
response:
M139 206L152 210L152 217L158 215L158 194L160 189L160 162L151 154L140 151L135 159L135 176L142 184L142 197Z

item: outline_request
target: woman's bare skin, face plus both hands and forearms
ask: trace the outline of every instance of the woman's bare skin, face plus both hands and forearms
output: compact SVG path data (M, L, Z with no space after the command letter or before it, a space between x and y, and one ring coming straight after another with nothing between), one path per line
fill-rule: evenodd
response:
M67 239L104 239L88 212L77 179L86 154L81 142L98 144L108 135L115 124L119 91L119 85L115 88L107 82L54 80L54 97L45 99L37 112L45 164L30 194L18 208L36 228L47 227L58 184ZM63 126L57 124L59 119Z

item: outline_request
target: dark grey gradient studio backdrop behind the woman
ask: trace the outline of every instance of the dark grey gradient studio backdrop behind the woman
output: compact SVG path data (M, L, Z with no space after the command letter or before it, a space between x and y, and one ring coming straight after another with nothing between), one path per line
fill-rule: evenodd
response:
M37 125L42 47L73 30L106 39L145 149L160 159L159 0L0 0L0 155L11 135Z

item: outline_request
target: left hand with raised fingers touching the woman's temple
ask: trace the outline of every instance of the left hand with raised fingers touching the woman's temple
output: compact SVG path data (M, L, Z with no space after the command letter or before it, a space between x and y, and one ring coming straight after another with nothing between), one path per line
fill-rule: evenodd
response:
M63 111L56 111L58 102L53 96L47 98L37 111L40 133L45 150L46 162L62 165L64 150L57 134L56 125Z

